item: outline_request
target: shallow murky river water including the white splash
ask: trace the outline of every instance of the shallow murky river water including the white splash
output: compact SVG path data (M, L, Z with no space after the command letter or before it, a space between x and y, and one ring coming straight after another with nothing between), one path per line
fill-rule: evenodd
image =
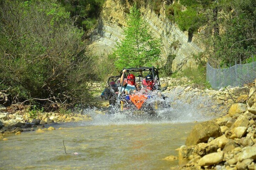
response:
M0 169L170 169L181 162L164 158L178 157L176 149L185 144L195 121L212 119L205 116L210 102L201 110L202 100L193 101L173 102L159 110L161 119L109 116L90 108L84 112L91 121L9 135L0 141Z

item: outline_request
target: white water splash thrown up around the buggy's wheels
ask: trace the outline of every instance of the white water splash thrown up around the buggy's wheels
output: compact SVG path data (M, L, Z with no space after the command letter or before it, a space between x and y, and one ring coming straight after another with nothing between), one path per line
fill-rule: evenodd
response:
M179 97L182 94L181 97ZM166 93L165 100L161 97L151 97L147 102L153 105L158 101L159 108L154 115L140 114L129 110L120 112L120 108L111 110L109 114L106 108L87 108L84 114L91 116L92 120L81 122L80 125L131 125L131 124L162 124L162 123L189 123L202 122L213 119L214 109L209 96L197 96L193 93L184 93L182 89L174 89ZM136 114L134 114L136 113Z

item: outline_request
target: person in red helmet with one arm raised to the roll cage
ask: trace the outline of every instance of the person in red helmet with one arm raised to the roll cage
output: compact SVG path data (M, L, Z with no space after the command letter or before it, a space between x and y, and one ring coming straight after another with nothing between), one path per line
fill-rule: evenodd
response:
M124 91L125 91L125 94L129 94L130 91L135 93L136 92L136 89L138 90L139 89L139 84L137 84L135 82L135 76L133 74L129 74L127 76L127 82L124 80L124 73L126 72L127 70L123 70L123 73L122 73L122 76L120 78L120 85L122 85L122 91L123 91L123 88L124 88Z

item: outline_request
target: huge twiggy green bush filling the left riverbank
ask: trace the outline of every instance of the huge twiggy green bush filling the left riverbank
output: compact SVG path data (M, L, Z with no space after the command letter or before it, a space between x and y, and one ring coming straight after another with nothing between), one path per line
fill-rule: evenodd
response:
M19 101L86 103L94 62L85 54L84 32L72 25L65 9L56 0L2 3L0 88Z

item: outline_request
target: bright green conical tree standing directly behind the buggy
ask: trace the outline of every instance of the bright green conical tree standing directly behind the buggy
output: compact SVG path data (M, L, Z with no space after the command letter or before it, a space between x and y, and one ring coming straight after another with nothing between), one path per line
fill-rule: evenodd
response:
M151 66L160 57L160 41L152 37L136 6L130 8L127 25L125 38L117 43L112 55L116 68Z

